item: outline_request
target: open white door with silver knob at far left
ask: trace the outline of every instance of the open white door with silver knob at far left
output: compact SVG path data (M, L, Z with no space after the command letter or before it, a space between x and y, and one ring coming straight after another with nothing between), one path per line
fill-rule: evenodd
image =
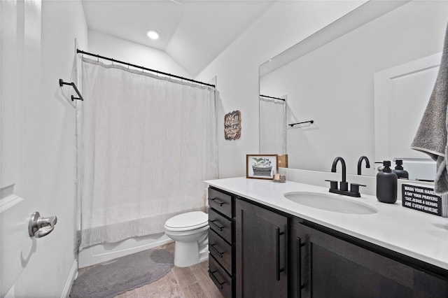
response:
M25 124L29 116L27 98L39 91L38 71L40 48L32 42L40 31L38 7L25 2L1 1L1 292L10 297L31 295L26 290L36 287L33 295L39 295L38 286L29 278L34 271L38 278L41 256L37 254L43 239L31 238L28 233L29 217L33 211L41 211L41 202L33 196L32 187L39 184L41 175L31 161L34 159L30 145L31 132ZM25 20L32 20L33 26ZM4 30L4 31L3 31ZM30 63L25 71L25 63ZM27 83L20 85L19 78ZM32 118L31 118L32 119ZM36 130L38 132L38 122ZM34 148L36 150L37 148ZM31 176L36 179L32 179ZM37 189L35 189L38 192ZM41 240L41 241L38 241Z

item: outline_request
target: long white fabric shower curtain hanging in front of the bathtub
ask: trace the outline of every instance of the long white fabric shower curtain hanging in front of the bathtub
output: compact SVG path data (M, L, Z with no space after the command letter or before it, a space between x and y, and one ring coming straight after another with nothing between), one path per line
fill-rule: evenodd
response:
M164 231L218 176L215 92L83 58L80 248Z

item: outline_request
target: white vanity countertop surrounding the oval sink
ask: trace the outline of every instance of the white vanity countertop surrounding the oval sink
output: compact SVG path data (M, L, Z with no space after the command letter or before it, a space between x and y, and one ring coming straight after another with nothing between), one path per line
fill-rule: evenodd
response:
M376 197L362 193L360 198L343 197L362 201L376 208L377 213L358 215L324 211L297 204L286 199L283 194L286 192L330 194L328 188L292 181L274 183L272 180L239 177L205 182L265 206L448 270L448 218L403 207L401 201L384 204Z

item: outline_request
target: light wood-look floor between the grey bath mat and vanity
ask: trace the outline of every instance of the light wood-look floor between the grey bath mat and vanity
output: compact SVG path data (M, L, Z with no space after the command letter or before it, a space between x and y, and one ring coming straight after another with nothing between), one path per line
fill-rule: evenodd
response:
M174 254L174 243L160 248L167 248ZM78 270L78 276L92 267ZM222 298L216 285L209 278L209 262L202 262L192 267L172 267L165 276L141 288L127 291L116 298Z

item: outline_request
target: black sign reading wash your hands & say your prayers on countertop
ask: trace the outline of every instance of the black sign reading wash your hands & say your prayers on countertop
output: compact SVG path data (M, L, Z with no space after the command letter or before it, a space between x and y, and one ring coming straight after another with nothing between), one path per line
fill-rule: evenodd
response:
M403 184L402 206L442 216L442 197L429 187Z

